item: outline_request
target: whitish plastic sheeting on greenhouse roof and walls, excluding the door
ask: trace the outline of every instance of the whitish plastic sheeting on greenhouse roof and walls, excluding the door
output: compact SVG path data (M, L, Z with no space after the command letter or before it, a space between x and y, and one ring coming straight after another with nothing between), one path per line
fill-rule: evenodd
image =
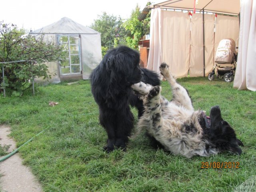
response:
M62 18L53 24L35 30L31 34L36 36L44 34L44 40L52 40L54 44L58 43L58 35L79 35L83 79L89 78L92 70L96 68L102 59L100 33L86 26L82 26L69 18ZM60 69L58 61L47 62L46 65L48 66L49 74L52 76L52 79L43 80L42 78L39 78L36 81L43 83L60 82ZM72 75L73 74L71 73L70 76L72 77ZM65 77L67 76L69 75L65 75Z

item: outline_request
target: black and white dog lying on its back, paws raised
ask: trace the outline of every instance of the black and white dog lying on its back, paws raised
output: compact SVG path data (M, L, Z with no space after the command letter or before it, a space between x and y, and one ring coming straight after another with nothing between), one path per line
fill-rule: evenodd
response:
M166 150L187 158L224 151L240 155L239 145L243 144L222 119L219 106L211 108L210 118L201 110L195 111L188 92L169 73L168 65L162 63L160 71L172 87L172 100L169 102L160 95L160 86L134 84L133 90L144 95L145 112L138 128L147 130Z

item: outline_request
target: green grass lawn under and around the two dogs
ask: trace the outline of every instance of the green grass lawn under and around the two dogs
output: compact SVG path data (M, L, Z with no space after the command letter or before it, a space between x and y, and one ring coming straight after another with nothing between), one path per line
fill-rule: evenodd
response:
M232 83L182 78L195 109L219 105L222 116L244 143L241 156L229 153L191 159L154 150L143 133L132 137L126 152L103 152L107 135L98 122L98 106L89 81L36 87L36 95L0 97L0 124L12 127L45 192L227 192L256 175L256 92L239 91ZM162 94L171 99L170 87ZM48 102L59 102L50 107ZM136 109L132 109L137 116ZM136 126L135 126L136 127ZM202 162L239 162L239 169L201 169Z

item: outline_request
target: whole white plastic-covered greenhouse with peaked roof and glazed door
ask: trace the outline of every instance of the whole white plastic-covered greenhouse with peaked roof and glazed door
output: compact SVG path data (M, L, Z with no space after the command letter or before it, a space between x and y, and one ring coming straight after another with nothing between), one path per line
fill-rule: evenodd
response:
M45 41L64 45L66 61L46 63L52 75L52 79L47 80L49 82L58 83L68 78L88 79L102 59L100 33L69 18L62 18L31 34L44 35ZM40 78L37 81L46 80Z

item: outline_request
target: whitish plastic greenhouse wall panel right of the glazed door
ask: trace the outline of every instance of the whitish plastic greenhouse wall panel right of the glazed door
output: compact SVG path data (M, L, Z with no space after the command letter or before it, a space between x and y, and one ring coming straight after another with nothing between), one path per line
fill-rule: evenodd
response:
M82 34L81 35L81 60L83 79L89 79L94 68L102 60L100 34Z

